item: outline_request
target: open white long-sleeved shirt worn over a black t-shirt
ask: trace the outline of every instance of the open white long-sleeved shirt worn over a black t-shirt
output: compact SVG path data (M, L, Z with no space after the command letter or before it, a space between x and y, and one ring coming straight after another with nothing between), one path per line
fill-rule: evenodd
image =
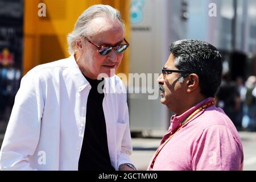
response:
M117 76L104 80L102 105L109 155L117 169L131 163L126 90ZM31 69L15 97L0 151L0 169L77 170L90 88L73 55Z

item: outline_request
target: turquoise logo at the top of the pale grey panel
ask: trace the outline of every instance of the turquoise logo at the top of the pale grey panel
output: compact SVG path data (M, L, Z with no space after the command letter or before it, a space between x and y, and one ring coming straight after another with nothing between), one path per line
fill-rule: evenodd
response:
M133 24L141 22L143 18L142 7L144 6L145 0L133 0L131 2L130 10L130 21Z

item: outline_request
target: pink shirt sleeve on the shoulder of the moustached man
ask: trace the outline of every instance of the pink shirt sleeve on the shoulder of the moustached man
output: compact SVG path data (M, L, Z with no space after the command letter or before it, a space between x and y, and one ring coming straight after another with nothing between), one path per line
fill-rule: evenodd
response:
M192 150L192 170L238 171L242 170L241 143L233 137L228 127L207 127L196 140Z

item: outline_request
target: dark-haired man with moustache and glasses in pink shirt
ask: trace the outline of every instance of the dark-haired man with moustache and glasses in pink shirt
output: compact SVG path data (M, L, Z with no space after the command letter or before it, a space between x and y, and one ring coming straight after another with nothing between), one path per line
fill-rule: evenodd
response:
M221 55L209 43L179 40L170 45L158 82L160 101L176 114L148 170L243 169L236 127L214 106L221 74Z

